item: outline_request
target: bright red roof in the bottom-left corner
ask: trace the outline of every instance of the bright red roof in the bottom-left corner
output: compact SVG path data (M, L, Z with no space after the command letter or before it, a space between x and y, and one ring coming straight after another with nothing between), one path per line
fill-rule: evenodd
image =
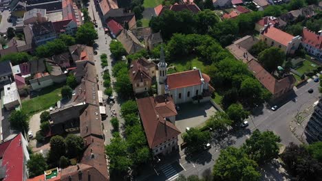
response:
M23 180L24 163L21 136L21 133L15 136L3 153L2 167L6 167L6 177L3 178L3 181Z

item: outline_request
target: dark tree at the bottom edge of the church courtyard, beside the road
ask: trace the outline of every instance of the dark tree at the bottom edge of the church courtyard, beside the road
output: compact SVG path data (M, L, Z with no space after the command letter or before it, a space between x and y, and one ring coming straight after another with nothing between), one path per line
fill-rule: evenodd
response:
M206 145L211 139L210 132L202 132L197 128L191 128L189 132L184 134L183 140L189 145L188 152L194 152Z

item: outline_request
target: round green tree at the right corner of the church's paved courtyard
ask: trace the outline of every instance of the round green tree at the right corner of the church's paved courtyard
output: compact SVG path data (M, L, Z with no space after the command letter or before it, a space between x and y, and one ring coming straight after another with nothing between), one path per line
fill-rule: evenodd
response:
M228 129L228 126L233 123L225 112L216 112L216 114L211 115L206 121L207 126L218 132L223 132Z

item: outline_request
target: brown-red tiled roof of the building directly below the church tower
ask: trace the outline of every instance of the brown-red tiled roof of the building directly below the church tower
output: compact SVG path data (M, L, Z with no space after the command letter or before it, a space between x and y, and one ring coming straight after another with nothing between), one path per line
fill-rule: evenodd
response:
M156 103L153 97L137 99L136 102L138 103L140 117L150 148L154 148L169 138L177 137L180 134L180 131L173 123L165 121L164 117L162 117L162 114L167 115L167 113L158 112L155 109ZM173 101L167 104L173 104ZM170 112L170 110L167 111Z

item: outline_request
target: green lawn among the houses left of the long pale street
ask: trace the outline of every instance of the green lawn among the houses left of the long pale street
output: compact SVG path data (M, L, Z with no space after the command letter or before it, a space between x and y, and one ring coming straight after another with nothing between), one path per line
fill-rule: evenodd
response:
M22 101L21 106L23 112L28 116L46 110L50 106L54 106L58 100L61 99L61 87L62 85L53 85L41 90L41 95Z

